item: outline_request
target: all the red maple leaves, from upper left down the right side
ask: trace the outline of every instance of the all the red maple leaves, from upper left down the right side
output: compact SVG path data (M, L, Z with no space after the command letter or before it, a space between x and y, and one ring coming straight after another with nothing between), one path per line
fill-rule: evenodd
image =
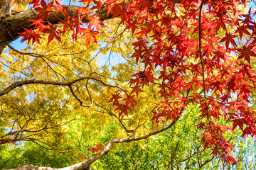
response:
M137 35L132 57L144 64L144 70L134 74L129 81L132 91L119 90L110 98L119 116L128 115L136 103L135 95L139 96L144 86L157 81L161 101L156 103L152 119L156 123L164 121L164 118L175 121L189 103L198 104L201 108L198 128L203 131L205 147L212 149L213 154L218 154L223 162L235 162L230 155L233 147L225 140L223 132L239 127L242 137L256 135L255 112L248 106L252 94L250 89L255 88L256 84L256 74L250 65L251 57L256 56L256 23L252 19L255 13L251 13L251 10L247 14L238 10L237 6L245 6L245 1L82 2L86 4L85 7L80 7L75 12L78 15L72 17L66 7L56 1L48 4L44 0L33 1L38 16L32 25L38 28L38 32L25 30L21 33L23 41L39 42L40 33L49 34L48 42L53 38L60 41L60 33L72 30L73 39L77 40L80 34L89 45L96 42L95 35L99 33L99 26L103 25L99 16L90 16L90 10L99 11L107 7L107 15L119 16L126 29ZM94 5L89 6L91 2ZM204 9L200 13L202 3ZM182 12L180 8L183 8ZM65 16L64 20L59 18L63 24L62 30L48 21L50 15L54 15L53 9ZM82 22L84 17L89 20L87 28ZM47 26L42 18L48 22ZM230 26L233 29L228 30ZM225 31L225 35L220 30L222 33ZM220 125L214 121L216 119L231 122L233 127ZM96 152L97 148L91 150Z

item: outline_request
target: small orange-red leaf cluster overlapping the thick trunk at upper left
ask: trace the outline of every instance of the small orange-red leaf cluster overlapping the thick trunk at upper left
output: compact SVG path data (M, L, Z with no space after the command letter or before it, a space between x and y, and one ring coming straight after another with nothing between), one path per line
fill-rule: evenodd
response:
M73 13L77 13L77 16L70 16L68 13L67 6L61 6L58 1L50 1L48 4L45 0L34 0L31 1L30 4L33 4L35 11L38 12L36 16L36 20L30 20L31 26L37 28L37 30L28 30L25 29L23 33L19 33L23 36L22 42L28 40L32 40L32 44L34 42L40 43L41 33L48 35L48 43L53 39L61 42L60 35L68 32L69 30L73 31L72 38L74 40L78 39L78 35L81 35L82 38L85 38L87 47L90 45L90 42L96 42L95 35L99 32L100 26L104 26L102 21L100 21L100 16L97 16L97 13L90 13L89 4L90 1L86 1L88 4L86 7L80 7L77 11L73 11ZM97 1L94 1L97 3ZM100 8L100 6L96 6ZM61 15L60 15L61 13ZM64 16L64 18L63 18ZM49 21L49 17L54 17L58 19L59 24L53 25ZM87 28L85 28L85 23L82 22L82 19L86 18L89 20L87 23ZM44 24L45 20L47 25ZM58 25L62 25L63 27L59 27Z

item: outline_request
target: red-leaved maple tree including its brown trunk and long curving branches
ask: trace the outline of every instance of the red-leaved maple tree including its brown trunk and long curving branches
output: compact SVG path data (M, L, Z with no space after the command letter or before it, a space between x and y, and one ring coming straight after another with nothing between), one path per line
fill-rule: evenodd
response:
M96 91L95 94L90 94L88 82L95 81L95 84L112 89L111 96L104 96L105 103L111 103L112 116L119 121L127 134L132 135L112 138L101 150L100 147L95 147L92 150L99 151L97 154L84 162L70 166L70 169L89 169L90 164L107 154L114 143L143 140L168 130L182 118L189 104L197 104L200 108L201 120L196 126L202 132L201 142L205 149L212 150L212 154L220 157L224 163L237 163L230 153L233 146L223 134L238 128L242 131L242 137L254 137L256 132L255 111L250 106L253 98L252 89L255 88L256 81L255 70L251 64L252 57L256 56L256 23L253 18L256 13L252 8L246 8L250 1L81 2L82 6L65 6L61 5L60 1L14 1L14 8L21 9L14 13L11 11L13 7L10 1L1 1L0 4L0 11L3 11L0 16L0 30L6 30L0 34L1 52L9 42L19 36L22 36L21 41L28 41L33 46L43 43L43 37L48 38L48 45L54 40L63 42L62 36L68 34L73 41L85 40L86 47L90 47L92 43L107 42L102 34L108 33L107 19L111 18L119 18L114 21L117 22L115 29L122 31L119 35L129 31L130 37L125 36L132 37L129 43L132 43L133 49L128 49L127 55L137 63L139 69L130 72L127 77L128 85L108 84L107 78L94 76L92 71L84 77L78 74L70 75L67 72L68 79L58 76L58 79L53 79L53 74L58 74L54 70L49 77L41 77L45 79L28 79L28 76L26 79L19 77L18 80L10 78L14 82L3 83L4 88L0 91L2 97L16 91L18 86L28 84L65 86L70 90L66 90L65 94L72 94L75 100L85 107L93 106L92 99L97 96ZM25 10L28 4L33 8ZM8 46L18 52L11 45ZM19 54L43 57L29 51ZM50 65L47 69L48 67L51 68ZM38 71L46 73L45 70ZM80 73L82 69L75 70L77 71ZM77 83L80 85L74 89ZM85 87L82 89L81 86ZM79 91L78 87L88 94L91 101L89 105L85 105L76 94ZM139 118L139 115L132 112L139 109L139 101L150 88L154 89L156 95L153 98L154 106L151 107L150 113L142 114ZM102 89L98 91L102 92ZM53 99L50 95L47 94L46 98ZM7 99L11 101L11 98ZM65 103L61 100L58 102ZM124 123L126 117L131 120L131 129ZM48 124L52 124L50 129L63 125L58 124L58 121L53 123L50 117L47 119L46 125L33 132L48 130ZM145 125L153 127L146 134L139 130ZM1 144L33 140L22 138L22 132L32 130L11 130L1 136ZM23 166L24 169L29 167Z

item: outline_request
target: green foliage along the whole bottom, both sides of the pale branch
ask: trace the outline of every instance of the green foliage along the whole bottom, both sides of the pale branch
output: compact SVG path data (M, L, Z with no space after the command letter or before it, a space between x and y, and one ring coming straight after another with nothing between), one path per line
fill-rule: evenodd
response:
M91 165L91 169L253 169L255 168L255 140L231 138L238 164L223 164L203 149L196 124L200 118L196 106L190 106L176 125L159 135L140 142L114 145L111 152ZM86 119L79 118L66 127L67 135L56 150L44 149L34 142L21 143L18 147L7 145L0 150L0 169L23 164L63 167L81 162L81 156L91 157L88 149L98 142L105 143L117 135L119 126L110 123L95 130L86 126ZM95 137L97 134L97 137ZM64 142L65 141L65 142ZM68 141L68 142L67 142ZM122 146L119 146L122 145Z

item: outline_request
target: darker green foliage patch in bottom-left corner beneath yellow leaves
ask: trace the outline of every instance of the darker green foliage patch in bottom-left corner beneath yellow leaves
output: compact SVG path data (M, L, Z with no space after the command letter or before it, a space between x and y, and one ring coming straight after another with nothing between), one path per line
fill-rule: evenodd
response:
M48 150L33 142L26 142L18 147L3 146L0 150L0 169L15 168L24 164L50 166L60 168L68 166L72 157L60 154L56 150Z

